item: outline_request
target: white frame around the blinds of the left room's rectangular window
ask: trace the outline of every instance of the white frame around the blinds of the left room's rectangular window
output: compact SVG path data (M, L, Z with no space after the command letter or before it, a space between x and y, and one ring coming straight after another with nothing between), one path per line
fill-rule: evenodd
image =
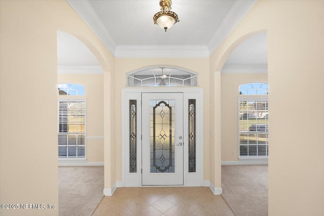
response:
M60 102L84 102L85 103L85 157L59 157L59 152L57 152L57 157L59 162L86 162L87 161L87 100L84 96L68 96L68 95L60 95L60 98L57 100L57 136L60 134L60 110L59 103ZM78 133L79 134L79 133ZM57 141L57 150L59 144Z

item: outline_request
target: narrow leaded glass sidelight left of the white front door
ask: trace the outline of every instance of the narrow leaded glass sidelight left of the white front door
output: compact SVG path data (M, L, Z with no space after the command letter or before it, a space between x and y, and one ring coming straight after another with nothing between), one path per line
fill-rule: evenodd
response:
M136 100L130 100L130 172L137 172Z

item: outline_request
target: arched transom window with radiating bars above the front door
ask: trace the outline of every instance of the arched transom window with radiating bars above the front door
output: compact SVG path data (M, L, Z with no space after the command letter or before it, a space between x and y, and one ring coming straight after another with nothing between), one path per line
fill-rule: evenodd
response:
M128 87L198 86L198 75L170 66L149 67L127 74L126 83Z

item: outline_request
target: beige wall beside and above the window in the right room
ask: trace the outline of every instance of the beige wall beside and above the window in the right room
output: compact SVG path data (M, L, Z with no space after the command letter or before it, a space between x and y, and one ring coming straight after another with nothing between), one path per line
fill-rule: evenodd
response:
M267 82L268 74L221 74L221 143L222 161L238 160L238 98L239 85ZM255 97L255 96L254 96ZM258 98L262 96L257 96ZM234 152L234 154L232 154Z

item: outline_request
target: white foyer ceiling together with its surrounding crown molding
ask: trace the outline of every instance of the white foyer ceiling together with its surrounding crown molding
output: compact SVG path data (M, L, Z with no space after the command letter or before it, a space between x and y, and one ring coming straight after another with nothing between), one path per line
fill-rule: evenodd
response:
M66 0L115 57L209 57L256 0L173 0L176 23L153 23L159 0Z

